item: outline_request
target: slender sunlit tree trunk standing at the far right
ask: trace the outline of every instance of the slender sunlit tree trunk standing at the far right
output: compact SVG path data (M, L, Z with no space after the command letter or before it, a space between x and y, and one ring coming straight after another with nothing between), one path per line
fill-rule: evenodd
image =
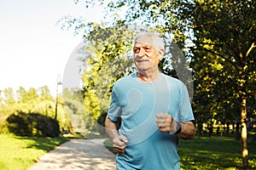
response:
M247 150L247 110L246 97L241 98L241 159L242 167L248 167Z

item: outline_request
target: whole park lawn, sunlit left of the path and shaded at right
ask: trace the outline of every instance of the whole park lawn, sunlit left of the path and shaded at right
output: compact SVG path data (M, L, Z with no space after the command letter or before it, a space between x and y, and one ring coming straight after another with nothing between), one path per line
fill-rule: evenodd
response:
M252 136L248 139L249 164L251 169L256 169L256 143L252 139ZM0 134L0 169L25 170L38 161L40 156L67 140L68 138L28 138ZM106 140L105 145L111 146L111 141ZM242 169L241 141L236 141L234 137L180 140L178 154L181 157L181 167L185 170Z

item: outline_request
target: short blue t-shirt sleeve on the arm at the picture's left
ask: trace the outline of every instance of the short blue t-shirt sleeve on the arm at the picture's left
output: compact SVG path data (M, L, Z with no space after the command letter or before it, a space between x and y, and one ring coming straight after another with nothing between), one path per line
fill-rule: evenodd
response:
M113 86L113 91L111 93L111 101L108 108L108 117L111 121L117 122L118 117L121 114L121 107L119 106L119 99L116 94L115 88Z

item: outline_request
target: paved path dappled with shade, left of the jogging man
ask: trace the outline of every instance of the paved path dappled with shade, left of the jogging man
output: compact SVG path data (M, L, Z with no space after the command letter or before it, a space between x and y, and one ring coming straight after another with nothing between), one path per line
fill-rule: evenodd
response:
M71 139L40 157L29 170L114 170L115 156L105 139Z

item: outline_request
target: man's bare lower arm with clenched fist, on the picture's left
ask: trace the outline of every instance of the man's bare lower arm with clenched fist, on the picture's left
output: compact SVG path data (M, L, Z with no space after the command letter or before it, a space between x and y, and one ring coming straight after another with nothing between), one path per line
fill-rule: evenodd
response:
M125 153L125 148L128 140L123 135L119 135L116 122L111 121L109 117L106 117L105 121L106 133L113 142L113 150L116 153Z

